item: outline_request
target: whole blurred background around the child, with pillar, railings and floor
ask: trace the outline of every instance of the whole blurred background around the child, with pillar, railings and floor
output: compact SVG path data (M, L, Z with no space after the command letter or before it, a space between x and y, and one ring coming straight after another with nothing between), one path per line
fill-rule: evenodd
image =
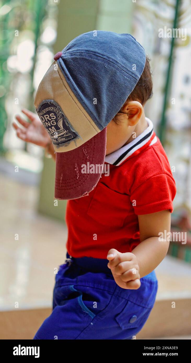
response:
M165 36L169 28L183 36ZM18 139L11 125L23 107L34 112L34 95L54 54L93 30L131 33L151 58L154 95L146 116L176 181L172 232L187 233L186 244L170 242L156 269L157 301L137 339L190 339L190 0L0 1L0 338L32 339L50 314L54 269L65 261L67 238L65 201L54 206L54 161Z

